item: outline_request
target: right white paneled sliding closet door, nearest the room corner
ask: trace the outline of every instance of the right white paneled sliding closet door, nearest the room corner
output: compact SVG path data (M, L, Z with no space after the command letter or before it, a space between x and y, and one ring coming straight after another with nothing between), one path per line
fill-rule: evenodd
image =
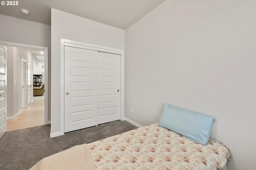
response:
M120 119L120 55L98 52L98 124Z

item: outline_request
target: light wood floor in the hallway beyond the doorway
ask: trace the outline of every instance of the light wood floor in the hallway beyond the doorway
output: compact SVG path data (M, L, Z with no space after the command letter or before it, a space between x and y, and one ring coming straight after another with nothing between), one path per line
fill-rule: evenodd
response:
M34 96L28 107L14 119L7 120L7 131L44 125L44 96Z

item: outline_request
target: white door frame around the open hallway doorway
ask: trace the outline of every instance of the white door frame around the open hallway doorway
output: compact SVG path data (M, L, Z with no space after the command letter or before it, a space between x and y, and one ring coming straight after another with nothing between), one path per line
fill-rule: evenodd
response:
M4 41L7 46L12 47L23 47L23 48L32 48L38 50L44 50L44 124L48 125L51 121L48 121L48 47L37 46L37 45L29 45L29 44L22 44L22 43L13 43Z

